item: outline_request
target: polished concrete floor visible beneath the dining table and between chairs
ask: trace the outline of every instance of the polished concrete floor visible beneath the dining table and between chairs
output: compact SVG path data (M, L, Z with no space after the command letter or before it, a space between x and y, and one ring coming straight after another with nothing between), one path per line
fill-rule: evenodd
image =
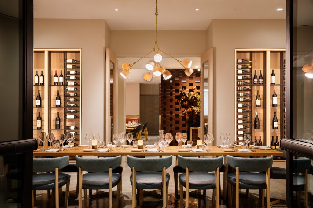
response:
M144 142L144 144L153 144L153 142L157 141L159 137L157 135L149 136L148 142ZM284 164L280 164L281 162L275 162L274 166L282 167ZM122 177L122 193L120 198L120 207L131 207L132 204L132 194L131 194L131 183L130 183L130 174L131 169L127 166L126 157L122 158L122 165L124 167L123 177ZM175 200L175 189L174 189L174 175L173 175L173 166L175 165L175 157L173 157L173 163L170 168L167 169L167 172L170 173L170 184L169 184L169 197L167 201L167 207L180 207L179 200ZM70 189L76 189L76 173L70 173L71 181L70 181ZM221 181L223 182L223 174L221 174ZM285 181L283 180L274 180L271 179L271 198L284 198L286 197L286 186ZM223 187L223 185L222 185ZM116 188L113 188L116 190ZM65 191L65 186L63 187L63 191ZM244 190L245 191L245 190ZM95 193L95 190L92 191ZM89 195L89 192L87 192ZM84 200L84 199L83 199ZM273 199L272 199L273 200ZM88 206L89 207L108 207L108 197L98 197L94 199L89 199L88 196ZM146 196L144 201L152 201L150 203L145 203L146 207L156 207L158 205L162 206L162 201L160 199L153 196ZM260 207L261 201L259 200L259 191L250 190L249 198L246 196L240 197L240 206L241 207ZM206 198L199 200L196 197L190 196L189 198L189 207L211 207L212 206L212 190L207 191ZM59 200L59 205L64 206L64 197ZM84 205L84 202L83 202ZM113 199L113 205L115 205L115 199ZM50 207L50 200L48 199L47 191L37 191L35 206L38 208L41 207ZM78 207L78 199L74 197L69 197L69 207L74 208ZM228 204L220 200L220 207L228 207ZM285 207L285 204L277 204L272 207Z

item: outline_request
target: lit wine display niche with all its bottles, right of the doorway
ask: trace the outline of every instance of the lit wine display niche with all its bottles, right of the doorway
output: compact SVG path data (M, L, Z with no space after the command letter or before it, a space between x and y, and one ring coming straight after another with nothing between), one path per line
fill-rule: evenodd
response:
M235 135L239 142L244 142L244 133L267 146L272 136L274 142L276 136L279 142L286 137L285 56L285 49L235 50Z

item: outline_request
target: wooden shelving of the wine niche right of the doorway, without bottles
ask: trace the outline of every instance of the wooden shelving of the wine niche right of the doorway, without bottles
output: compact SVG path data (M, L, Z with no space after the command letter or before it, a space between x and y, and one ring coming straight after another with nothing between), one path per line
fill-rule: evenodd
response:
M251 63L242 63L241 65L251 66L251 68L241 69L244 71L249 71L251 74L242 74L243 76L250 77L247 80L238 80L237 79L237 59L245 59L251 60ZM284 60L285 60L285 49L235 49L235 135L238 140L238 137L243 137L243 134L238 134L238 131L245 131L251 134L251 141L254 141L254 138L257 137L257 141L259 141L259 137L261 137L261 141L263 145L270 145L271 136L274 136L274 140L276 140L276 136L278 138L283 138L286 136L285 116L284 112L286 109L285 102L285 69L284 69ZM257 76L259 78L260 70L263 76L263 85L254 85L253 77L254 70L257 72ZM275 85L271 85L271 74L272 70L275 73ZM240 75L240 74L239 74ZM244 81L251 83L250 85L237 85L237 81ZM249 90L241 90L238 91L237 87L246 87ZM276 94L278 96L278 106L272 107L272 95L274 94L274 89L276 90ZM255 106L255 98L257 95L257 90L259 90L259 94L261 97L261 107ZM251 94L250 96L237 96L237 93L243 92ZM247 102L238 102L237 98L246 98L251 99L251 101ZM251 106L248 107L237 107L238 103L249 104ZM247 113L237 113L238 109L246 109L249 110ZM254 129L254 118L255 114L258 112L259 129ZM274 112L276 112L276 116L278 119L278 129L272 128L272 119L274 116ZM243 114L249 116L249 118L237 118L238 114ZM250 123L242 123L238 124L238 120L246 120ZM238 125L247 126L249 128L238 129ZM244 141L239 141L244 142Z

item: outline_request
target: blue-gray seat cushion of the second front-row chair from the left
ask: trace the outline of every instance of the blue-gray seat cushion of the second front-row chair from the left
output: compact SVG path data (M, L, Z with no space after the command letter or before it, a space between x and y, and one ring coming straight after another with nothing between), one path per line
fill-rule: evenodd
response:
M112 187L121 181L121 175L112 173ZM83 189L109 189L109 173L85 173L83 174Z

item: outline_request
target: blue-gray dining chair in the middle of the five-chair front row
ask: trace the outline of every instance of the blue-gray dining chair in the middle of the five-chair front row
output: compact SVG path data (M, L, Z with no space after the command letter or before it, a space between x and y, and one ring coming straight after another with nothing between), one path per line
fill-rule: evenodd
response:
M137 158L127 156L127 165L132 169L132 207L136 207L136 188L162 189L163 207L167 206L170 174L166 169L172 165L172 156L163 158ZM162 171L162 172L161 172Z

